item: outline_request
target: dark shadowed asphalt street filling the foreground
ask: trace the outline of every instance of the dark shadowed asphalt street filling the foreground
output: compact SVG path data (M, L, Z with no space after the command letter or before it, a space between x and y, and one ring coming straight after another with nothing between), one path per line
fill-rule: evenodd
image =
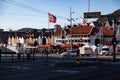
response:
M63 58L49 55L48 61L0 63L0 80L117 80L120 79L120 62L112 62L110 56L96 62L95 56L82 57L76 65L75 57ZM40 58L40 57L39 57ZM38 59L38 58L37 58Z

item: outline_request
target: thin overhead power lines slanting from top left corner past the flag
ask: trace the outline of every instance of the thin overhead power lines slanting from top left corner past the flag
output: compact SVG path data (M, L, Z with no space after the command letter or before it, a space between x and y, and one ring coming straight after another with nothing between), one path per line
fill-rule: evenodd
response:
M15 5L15 6L22 7L22 8L24 8L24 9L28 9L28 10L31 10L31 11L35 11L35 12L37 12L37 13L41 13L41 14L45 14L45 15L48 14L48 12L46 12L46 11L43 11L43 10L40 10L40 9L31 7L31 6L25 5L25 4L22 4L22 3L18 3L18 2L13 1L13 0L1 0L1 1L7 2L7 3L12 4L12 5ZM54 15L55 15L55 14L54 14ZM65 17L61 17L61 16L59 16L59 15L55 15L55 16L57 16L58 18L67 20L67 18L65 18Z

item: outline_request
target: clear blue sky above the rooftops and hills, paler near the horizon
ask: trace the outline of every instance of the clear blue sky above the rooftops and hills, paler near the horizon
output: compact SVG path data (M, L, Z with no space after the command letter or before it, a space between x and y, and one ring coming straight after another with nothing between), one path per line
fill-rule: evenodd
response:
M120 9L120 0L0 0L0 29L43 29L54 28L56 24L63 27L70 24L67 21L70 19L70 7L75 20L72 23L77 24L80 23L79 18L84 17L84 12L88 12L89 1L90 12L105 15ZM48 12L57 17L56 23L48 23Z

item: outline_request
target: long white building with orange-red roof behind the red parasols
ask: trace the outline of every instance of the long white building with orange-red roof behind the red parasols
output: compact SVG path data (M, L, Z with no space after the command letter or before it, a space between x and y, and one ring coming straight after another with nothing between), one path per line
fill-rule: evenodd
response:
M58 28L54 32L54 44L63 44L63 43L78 43L78 44L87 44L92 42L90 40L91 33L94 27L92 26L73 26L72 28ZM63 35L62 35L63 34ZM80 42L82 39L82 42ZM72 42L71 42L72 41Z

